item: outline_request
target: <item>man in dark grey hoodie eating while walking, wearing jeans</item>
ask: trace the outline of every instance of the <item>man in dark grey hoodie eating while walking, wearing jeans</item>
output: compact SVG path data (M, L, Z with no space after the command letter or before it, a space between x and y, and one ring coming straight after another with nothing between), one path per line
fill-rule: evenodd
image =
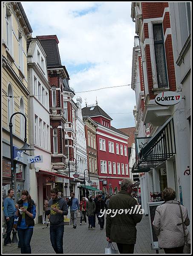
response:
M58 189L51 189L51 199L45 201L46 215L50 215L50 241L55 253L63 253L64 215L68 215L68 207L64 198L58 197Z

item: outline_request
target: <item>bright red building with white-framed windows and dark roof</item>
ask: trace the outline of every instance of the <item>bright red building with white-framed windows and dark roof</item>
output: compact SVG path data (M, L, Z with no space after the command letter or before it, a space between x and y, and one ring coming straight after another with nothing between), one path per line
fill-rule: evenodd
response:
M90 117L98 125L96 143L100 190L104 194L117 193L121 180L129 177L128 136L111 126L112 118L98 104L83 108L82 114L83 117Z

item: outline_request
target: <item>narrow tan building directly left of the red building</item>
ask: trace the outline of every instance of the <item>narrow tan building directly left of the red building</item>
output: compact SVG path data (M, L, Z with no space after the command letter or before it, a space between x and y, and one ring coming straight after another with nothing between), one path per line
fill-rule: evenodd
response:
M96 143L96 131L98 125L90 117L83 117L85 137L86 137L86 151L87 151L87 169L89 169L89 176L92 183L86 185L86 195L99 193L99 176L98 176L98 151ZM84 187L83 194L85 195Z

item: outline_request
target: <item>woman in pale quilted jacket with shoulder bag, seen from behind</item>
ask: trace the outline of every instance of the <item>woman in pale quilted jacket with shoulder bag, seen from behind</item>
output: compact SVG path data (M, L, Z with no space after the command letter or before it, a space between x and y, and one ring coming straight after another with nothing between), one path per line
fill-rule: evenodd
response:
M164 203L156 208L153 228L158 237L158 246L163 248L165 253L183 253L184 232L181 221L180 202L175 200L176 192L172 188L166 188L162 192ZM190 220L187 215L187 208L181 205L185 233L190 241L190 232L187 226Z

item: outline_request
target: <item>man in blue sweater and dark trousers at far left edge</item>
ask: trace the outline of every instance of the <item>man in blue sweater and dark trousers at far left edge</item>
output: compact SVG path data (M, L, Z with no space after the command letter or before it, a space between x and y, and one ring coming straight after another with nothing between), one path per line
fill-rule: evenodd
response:
M6 219L6 238L4 239L4 245L5 246L12 246L11 242L11 233L12 233L12 228L14 224L14 215L15 215L15 205L13 201L13 196L14 196L14 190L9 189L8 190L8 196L5 198L3 205L4 205L4 214L5 214L5 219Z

